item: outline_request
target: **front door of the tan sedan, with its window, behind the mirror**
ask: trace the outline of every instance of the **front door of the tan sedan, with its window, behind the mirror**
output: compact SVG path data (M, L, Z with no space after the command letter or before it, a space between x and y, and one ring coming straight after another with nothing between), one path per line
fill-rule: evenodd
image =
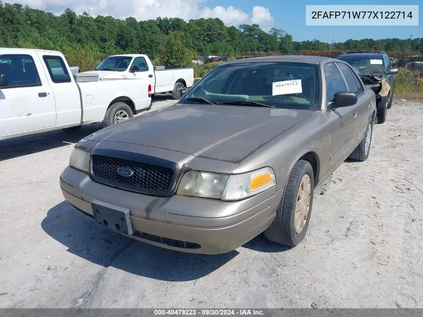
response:
M330 125L328 174L332 173L354 150L357 105L327 109L337 92L347 91L346 82L334 63L324 66L326 79L325 115Z

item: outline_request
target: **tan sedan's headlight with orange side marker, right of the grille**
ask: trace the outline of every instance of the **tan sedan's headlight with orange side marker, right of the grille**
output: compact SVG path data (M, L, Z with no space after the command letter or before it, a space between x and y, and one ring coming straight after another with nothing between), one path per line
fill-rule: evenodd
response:
M270 167L237 175L188 171L182 177L177 193L221 200L240 200L275 185L275 174Z

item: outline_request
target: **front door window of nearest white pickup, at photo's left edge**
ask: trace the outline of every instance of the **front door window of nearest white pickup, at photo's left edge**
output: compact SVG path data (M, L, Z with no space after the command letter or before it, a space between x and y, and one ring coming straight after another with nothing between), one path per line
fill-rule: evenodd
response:
M41 86L37 67L30 55L1 55L0 74L8 79L8 86L3 88Z

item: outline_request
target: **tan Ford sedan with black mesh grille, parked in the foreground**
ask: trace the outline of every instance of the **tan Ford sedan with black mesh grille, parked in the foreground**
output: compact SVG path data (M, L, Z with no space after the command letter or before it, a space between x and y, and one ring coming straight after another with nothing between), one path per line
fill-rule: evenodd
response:
M304 238L314 188L370 152L374 93L347 63L226 63L178 104L87 136L60 177L99 226L173 250L225 253Z

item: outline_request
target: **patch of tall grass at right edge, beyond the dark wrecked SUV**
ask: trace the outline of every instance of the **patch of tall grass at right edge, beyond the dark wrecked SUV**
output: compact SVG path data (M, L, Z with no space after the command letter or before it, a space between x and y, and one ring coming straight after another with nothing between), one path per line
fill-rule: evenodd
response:
M423 78L409 69L400 68L393 93L397 98L423 100Z

